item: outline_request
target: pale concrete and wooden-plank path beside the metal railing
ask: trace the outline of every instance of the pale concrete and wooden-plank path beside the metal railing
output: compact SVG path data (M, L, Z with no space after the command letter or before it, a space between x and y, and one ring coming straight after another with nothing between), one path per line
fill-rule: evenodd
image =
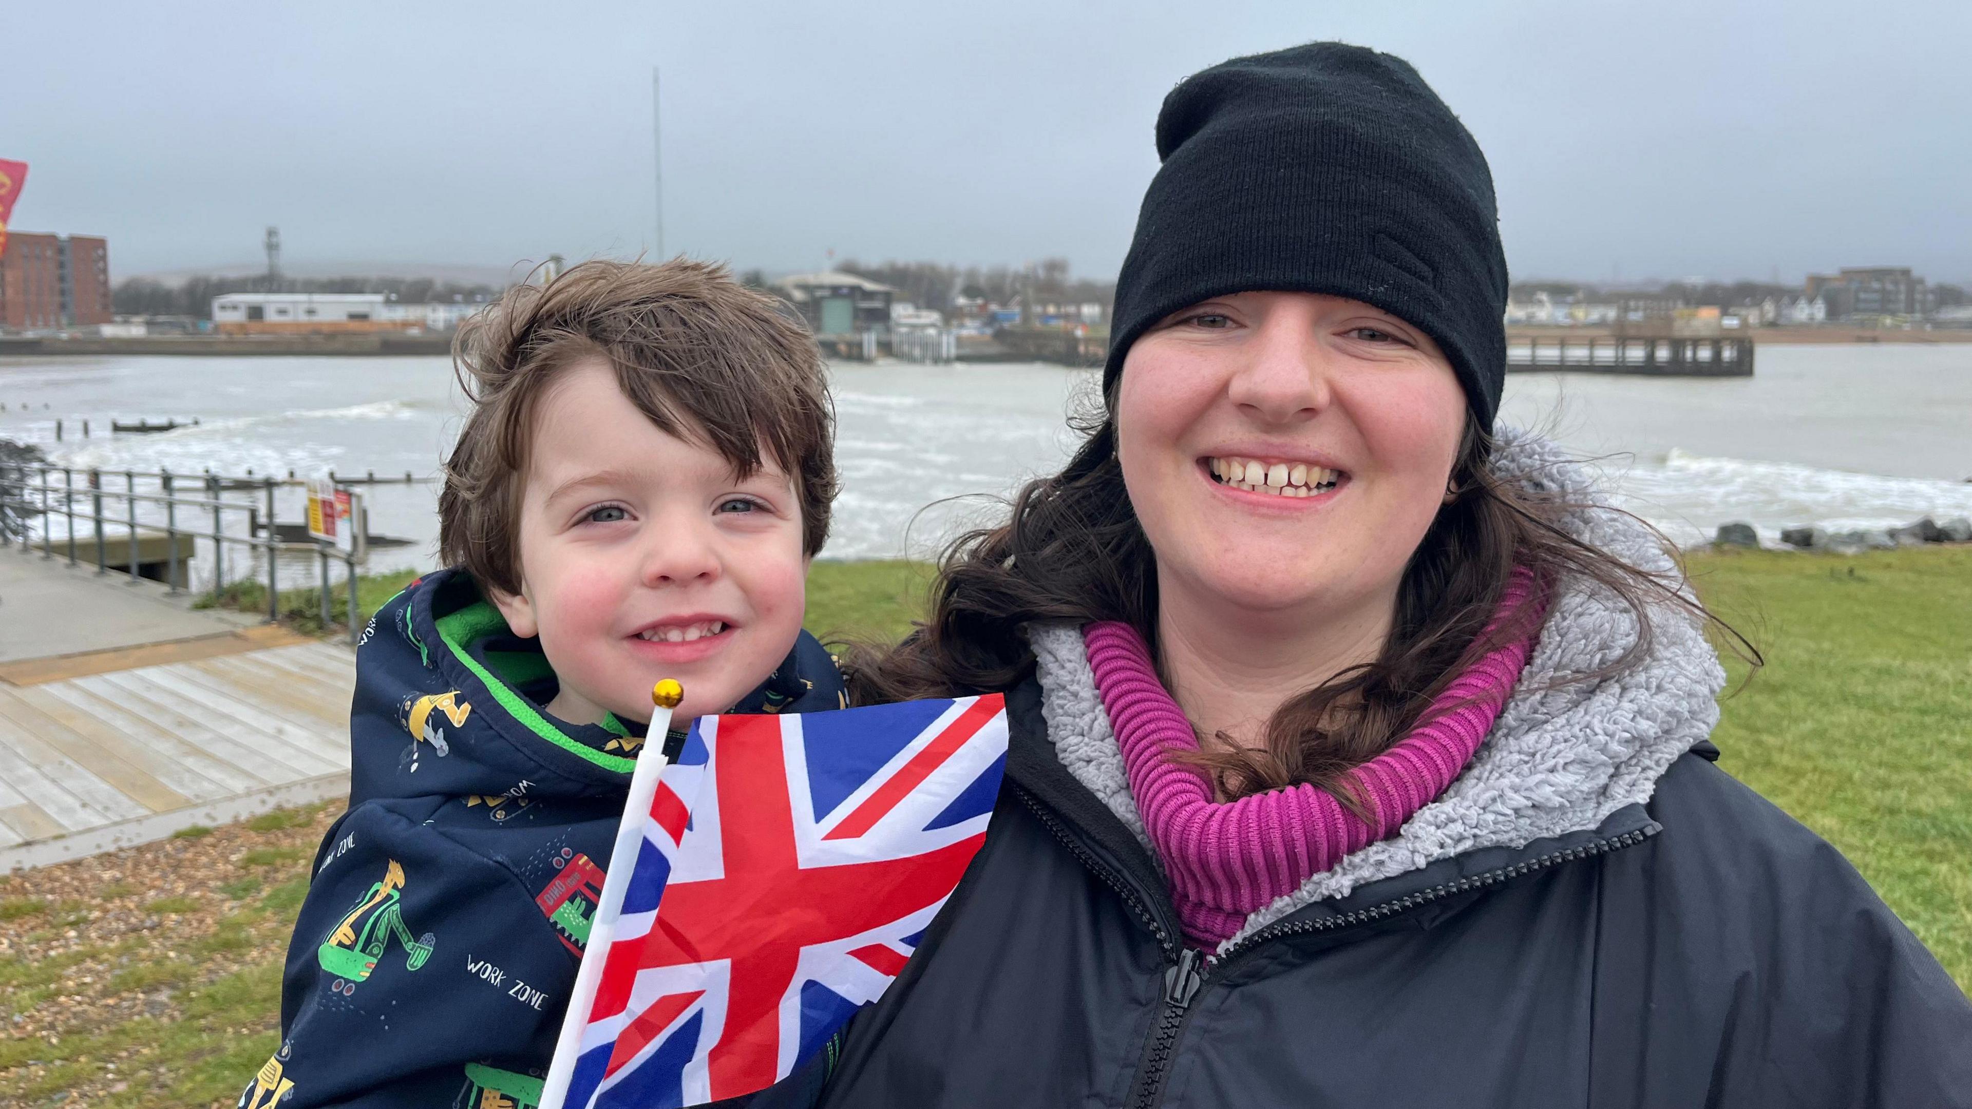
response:
M0 551L0 872L349 793L349 647Z

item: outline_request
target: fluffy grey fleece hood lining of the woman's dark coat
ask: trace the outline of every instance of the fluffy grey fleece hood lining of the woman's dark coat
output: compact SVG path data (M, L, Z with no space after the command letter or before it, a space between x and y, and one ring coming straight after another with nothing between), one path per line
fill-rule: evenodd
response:
M1501 428L1495 472L1532 493L1560 491L1593 505L1564 519L1568 533L1631 566L1676 572L1656 537L1607 509L1589 470L1528 432ZM1382 878L1420 870L1489 847L1599 827L1625 805L1651 799L1656 779L1718 724L1726 671L1688 612L1651 614L1649 653L1629 671L1570 681L1615 663L1637 641L1635 614L1603 586L1562 578L1550 598L1540 643L1507 706L1465 772L1418 809L1390 839L1363 847L1313 874L1298 890L1246 918L1240 939L1323 900ZM1041 716L1061 764L1158 858L1130 795L1122 752L1075 626L1033 626L1029 641L1041 683ZM1160 868L1163 860L1158 858Z

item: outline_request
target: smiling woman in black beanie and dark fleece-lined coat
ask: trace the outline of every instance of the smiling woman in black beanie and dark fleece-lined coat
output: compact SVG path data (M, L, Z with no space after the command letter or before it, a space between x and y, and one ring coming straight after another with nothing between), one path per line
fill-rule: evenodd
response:
M1004 691L984 849L820 1105L1968 1105L1972 1006L1714 768L1704 610L1493 432L1507 266L1402 61L1158 120L1106 408L862 697Z

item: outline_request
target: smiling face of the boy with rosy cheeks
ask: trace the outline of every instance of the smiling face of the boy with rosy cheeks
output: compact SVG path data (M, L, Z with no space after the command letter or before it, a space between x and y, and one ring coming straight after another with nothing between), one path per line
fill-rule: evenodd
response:
M659 430L601 359L540 397L521 596L493 602L515 633L540 635L562 687L554 716L649 720L665 677L684 685L680 724L728 708L795 645L807 572L779 466L736 480L710 446Z

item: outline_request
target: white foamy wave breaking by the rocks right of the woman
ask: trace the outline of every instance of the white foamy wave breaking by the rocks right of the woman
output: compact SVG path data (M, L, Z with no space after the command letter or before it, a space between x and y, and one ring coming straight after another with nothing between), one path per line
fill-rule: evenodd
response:
M1885 478L1795 462L1708 458L1670 450L1660 462L1603 466L1621 507L1680 545L1712 539L1722 523L1751 523L1763 543L1781 529L1901 527L1921 517L1972 517L1972 483Z

